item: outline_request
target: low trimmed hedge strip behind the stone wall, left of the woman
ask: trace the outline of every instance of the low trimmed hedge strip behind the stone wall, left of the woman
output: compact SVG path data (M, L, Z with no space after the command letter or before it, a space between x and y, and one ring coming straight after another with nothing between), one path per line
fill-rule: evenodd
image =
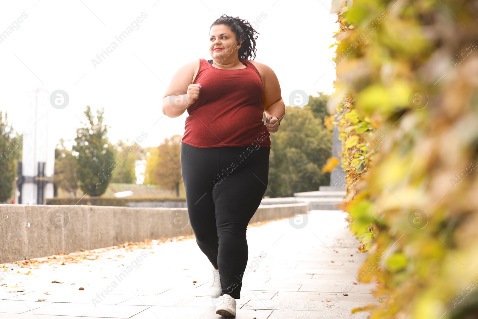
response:
M164 202L185 201L185 198L47 198L47 205L94 205L94 206L127 206L128 203L137 202Z

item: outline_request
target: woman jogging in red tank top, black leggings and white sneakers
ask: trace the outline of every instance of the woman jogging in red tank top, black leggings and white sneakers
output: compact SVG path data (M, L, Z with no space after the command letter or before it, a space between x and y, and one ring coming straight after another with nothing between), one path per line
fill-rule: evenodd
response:
M216 313L228 317L236 315L247 266L247 225L267 189L269 132L285 114L275 73L248 60L255 33L247 20L221 16L209 32L212 60L182 66L163 98L165 115L189 114L181 140L187 210L213 266L209 293L222 296Z

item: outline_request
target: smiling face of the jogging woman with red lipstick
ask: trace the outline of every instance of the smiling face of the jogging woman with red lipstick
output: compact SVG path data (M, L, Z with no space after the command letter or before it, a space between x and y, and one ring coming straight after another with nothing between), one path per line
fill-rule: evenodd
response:
M233 63L238 59L239 48L236 34L227 25L213 25L209 33L209 53L216 63Z

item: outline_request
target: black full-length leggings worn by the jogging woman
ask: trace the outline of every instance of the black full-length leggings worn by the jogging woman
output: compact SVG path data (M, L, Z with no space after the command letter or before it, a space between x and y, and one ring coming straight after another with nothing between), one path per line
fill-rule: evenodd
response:
M200 148L181 143L189 221L201 251L219 269L221 296L239 299L247 266L247 225L269 181L267 147Z

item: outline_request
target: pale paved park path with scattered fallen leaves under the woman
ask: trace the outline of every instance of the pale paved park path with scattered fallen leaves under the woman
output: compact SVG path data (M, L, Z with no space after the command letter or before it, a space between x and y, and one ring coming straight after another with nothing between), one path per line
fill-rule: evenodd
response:
M358 252L346 217L338 210L312 210L299 225L282 219L249 227L236 318L367 318L367 312L350 315L378 300L370 293L373 285L356 277L366 255ZM207 291L211 265L194 238L92 252L96 260L40 264L0 276L0 319L226 318L215 313L217 299ZM124 272L128 265L130 272Z

